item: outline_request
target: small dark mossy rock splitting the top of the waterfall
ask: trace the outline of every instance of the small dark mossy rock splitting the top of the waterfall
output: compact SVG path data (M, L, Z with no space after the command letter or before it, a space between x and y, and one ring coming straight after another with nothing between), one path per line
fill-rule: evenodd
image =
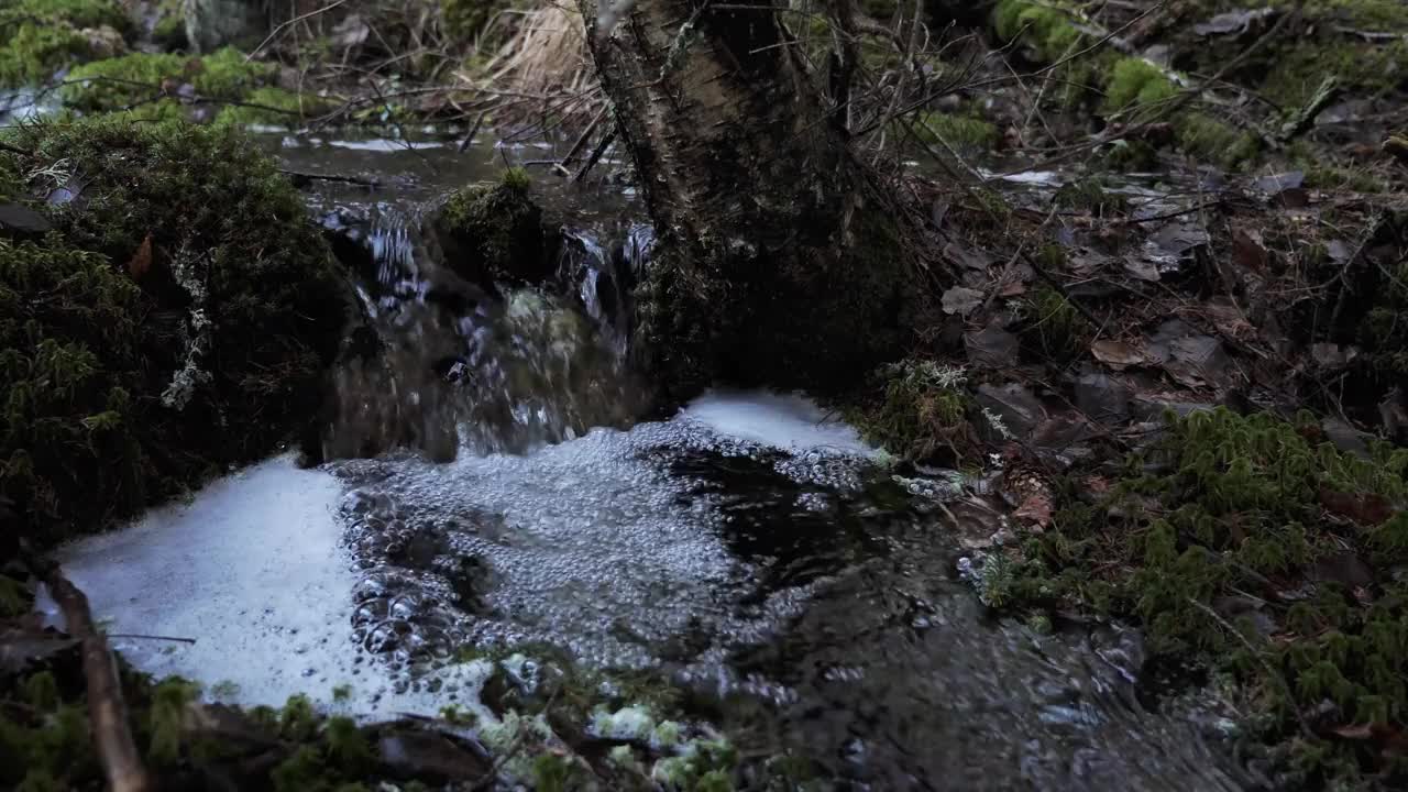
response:
M552 275L552 245L529 187L528 173L510 168L498 183L451 194L431 221L446 265L489 290Z

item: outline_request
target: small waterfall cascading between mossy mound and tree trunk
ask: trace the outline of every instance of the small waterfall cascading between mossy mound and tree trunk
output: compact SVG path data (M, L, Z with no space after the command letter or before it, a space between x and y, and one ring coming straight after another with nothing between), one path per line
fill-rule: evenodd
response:
M622 266L638 252L567 231L556 283L490 296L439 265L417 217L379 207L356 227L339 233L366 256L355 269L376 341L334 375L325 457L521 454L639 413Z

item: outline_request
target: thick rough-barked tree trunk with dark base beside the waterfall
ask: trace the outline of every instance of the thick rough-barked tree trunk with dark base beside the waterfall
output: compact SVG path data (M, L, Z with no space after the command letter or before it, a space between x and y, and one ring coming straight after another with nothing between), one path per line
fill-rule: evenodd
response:
M835 390L903 351L905 221L852 152L787 6L638 0L597 35L580 3L658 234L646 366L681 396L714 380Z

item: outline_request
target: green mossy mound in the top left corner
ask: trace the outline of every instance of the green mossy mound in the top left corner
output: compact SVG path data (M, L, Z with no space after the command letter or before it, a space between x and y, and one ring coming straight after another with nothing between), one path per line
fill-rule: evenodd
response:
M114 0L6 0L0 3L0 86L20 87L48 80L55 72L101 55L99 35L111 28L132 32L132 23Z

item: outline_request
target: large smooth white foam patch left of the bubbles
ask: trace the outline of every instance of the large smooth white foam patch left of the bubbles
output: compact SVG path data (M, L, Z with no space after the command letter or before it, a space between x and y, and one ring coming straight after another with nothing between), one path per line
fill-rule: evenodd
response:
M108 634L194 638L111 643L142 671L200 681L220 700L277 706L307 693L362 714L453 703L396 695L380 664L353 662L355 576L334 513L342 492L334 476L279 457L72 544L59 561ZM58 616L52 602L41 607ZM334 696L339 685L352 695Z

